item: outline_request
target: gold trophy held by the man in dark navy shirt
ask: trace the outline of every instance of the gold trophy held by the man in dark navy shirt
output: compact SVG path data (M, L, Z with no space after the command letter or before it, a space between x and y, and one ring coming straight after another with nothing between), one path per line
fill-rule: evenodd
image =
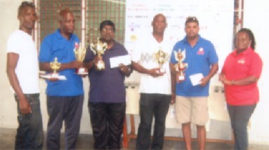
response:
M96 69L97 70L103 70L105 69L105 62L101 59L101 55L105 53L106 49L108 48L108 45L106 43L103 43L99 38L97 38L97 41L95 43L92 43L90 45L92 52L99 57L99 61L96 63Z

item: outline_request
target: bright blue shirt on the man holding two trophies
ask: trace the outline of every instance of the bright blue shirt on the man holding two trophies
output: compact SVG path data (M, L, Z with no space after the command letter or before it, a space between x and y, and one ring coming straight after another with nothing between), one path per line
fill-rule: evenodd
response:
M75 61L75 53L73 52L75 43L80 40L75 34L71 35L70 40L61 36L59 29L48 35L41 44L39 61L42 63L50 63L57 57L59 63L70 63ZM59 80L57 82L46 81L48 87L46 93L48 96L78 96L84 93L82 78L75 74L75 69L66 69L59 71L59 75L66 76L67 80Z

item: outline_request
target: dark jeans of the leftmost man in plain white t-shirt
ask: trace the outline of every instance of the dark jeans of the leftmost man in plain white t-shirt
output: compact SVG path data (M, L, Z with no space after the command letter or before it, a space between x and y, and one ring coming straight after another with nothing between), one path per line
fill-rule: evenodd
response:
M20 102L17 101L17 121L19 127L15 137L15 149L43 149L43 124L40 109L39 93L24 94L31 105L30 114L20 112Z

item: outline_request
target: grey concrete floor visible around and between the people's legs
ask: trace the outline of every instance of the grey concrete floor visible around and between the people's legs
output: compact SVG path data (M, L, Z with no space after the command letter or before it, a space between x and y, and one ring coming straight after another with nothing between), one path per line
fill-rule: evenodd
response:
M8 150L14 149L14 140L15 140L15 129L9 128L0 128L0 149ZM93 137L92 135L81 134L78 137L77 149L92 149ZM129 149L135 149L136 140L129 141ZM45 149L45 147L44 147ZM61 135L61 149L64 149L64 135ZM164 150L181 150L184 149L184 143L178 141L165 141ZM198 149L197 142L193 142L193 149ZM213 143L208 142L206 144L206 149L212 150L232 150L233 144L224 144L224 143ZM266 150L269 149L269 145L262 144L249 144L249 150Z

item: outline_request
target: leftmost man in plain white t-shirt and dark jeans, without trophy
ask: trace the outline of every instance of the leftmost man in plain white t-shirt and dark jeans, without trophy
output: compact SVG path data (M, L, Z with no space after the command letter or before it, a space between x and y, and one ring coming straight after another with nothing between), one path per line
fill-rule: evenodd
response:
M34 3L23 1L18 8L20 29L7 43L7 74L17 102L15 149L43 149L43 125L39 101L38 52L31 37L38 19Z

